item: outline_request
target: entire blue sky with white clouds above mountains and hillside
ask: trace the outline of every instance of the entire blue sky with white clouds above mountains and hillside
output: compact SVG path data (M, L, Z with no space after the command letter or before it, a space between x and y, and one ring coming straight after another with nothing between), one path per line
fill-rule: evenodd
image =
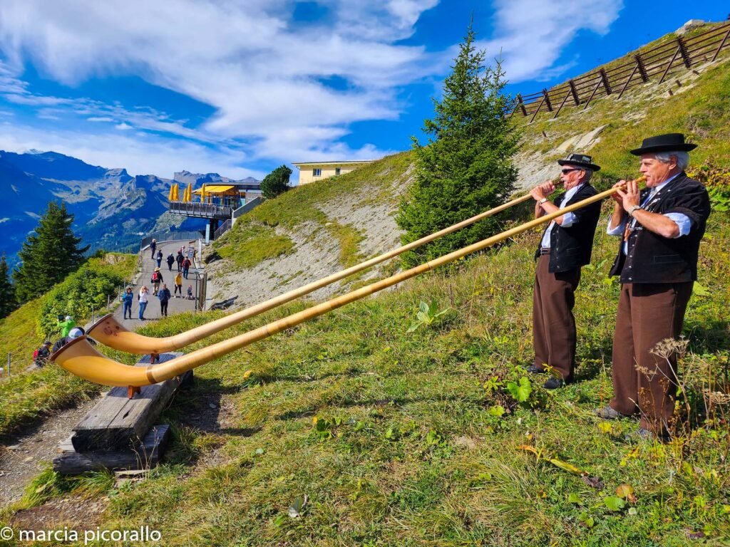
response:
M729 13L724 0L3 0L0 149L166 177L379 158L420 136L472 15L510 93L531 93Z

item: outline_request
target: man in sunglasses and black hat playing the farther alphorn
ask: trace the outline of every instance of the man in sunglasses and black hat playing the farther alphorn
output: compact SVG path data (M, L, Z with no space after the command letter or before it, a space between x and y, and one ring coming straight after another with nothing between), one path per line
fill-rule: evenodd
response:
M555 185L548 181L534 187L535 218L542 217L596 195L589 182L600 167L591 156L570 154L558 160L562 166L560 182L565 193L548 200ZM601 203L564 214L550 222L535 252L537 268L532 296L532 338L535 360L528 367L531 373L550 368L553 377L545 382L556 389L572 381L575 370L575 290L580 282L581 266L591 262L593 235L601 215Z

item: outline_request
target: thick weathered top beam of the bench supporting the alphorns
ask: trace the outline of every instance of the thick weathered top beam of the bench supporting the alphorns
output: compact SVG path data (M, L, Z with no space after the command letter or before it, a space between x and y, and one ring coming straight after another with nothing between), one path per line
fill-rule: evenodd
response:
M165 362L180 353L160 355ZM137 366L149 365L149 356L142 357ZM127 396L123 387L114 387L82 419L72 435L72 444L77 452L112 451L125 449L134 441L144 438L150 426L166 408L175 390L183 379L175 378L142 387L133 399Z

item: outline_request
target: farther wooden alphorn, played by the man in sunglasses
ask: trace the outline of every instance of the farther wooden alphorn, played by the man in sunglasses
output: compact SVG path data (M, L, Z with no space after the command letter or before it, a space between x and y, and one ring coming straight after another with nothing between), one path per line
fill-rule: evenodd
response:
M383 253L383 255L371 258L364 261L363 263L339 271L337 272L337 274L323 277L318 281L306 284L303 287L299 287L298 289L285 292L283 295L279 295L277 297L271 298L270 300L266 300L265 302L255 304L255 306L250 306L247 309L237 311L236 313L227 315L226 317L221 317L220 319L208 322L205 325L195 327L191 330L186 330L184 333L167 336L166 338L153 338L151 336L143 336L141 334L134 333L131 330L127 330L124 325L122 325L120 322L117 321L117 319L114 318L113 314L107 314L104 317L101 317L101 319L99 319L96 323L91 325L91 327L89 327L87 335L91 336L91 338L93 338L100 344L104 344L104 346L108 346L113 349L119 349L120 351L127 353L140 355L150 354L154 360L155 357L161 353L173 352L176 349L189 346L190 344L193 344L193 342L197 342L199 340L202 340L203 338L206 338L207 336L218 333L220 330L224 330L228 327L232 327L233 325L237 325L239 322L242 322L245 319L250 319L251 317L257 316L258 314L264 313L264 311L269 311L270 309L276 308L277 306L281 306L282 304L291 302L291 300L296 300L296 298L308 295L310 292L321 289L322 287L326 287L328 284L337 282L347 276L357 274L359 271L363 271L373 265L385 262L385 260L388 260L389 258L396 257L406 251L410 251L411 249L415 249L416 247L420 247L421 245L430 243L431 241L434 241L439 237L445 236L448 233L456 232L456 230L460 230L461 228L474 224L475 222L479 222L480 220L483 220L487 217L491 217L493 214L502 212L504 211L504 209L509 209L510 207L515 206L518 203L523 203L523 201L527 201L531 197L531 195L527 194L523 195L521 198L515 198L512 201L503 203L500 206L477 214L469 219L462 220L461 222L458 222L453 226L449 226L448 228L444 228L443 230L434 232L429 236L420 238L416 241L413 241L412 243L404 245L403 247L393 249L391 251Z

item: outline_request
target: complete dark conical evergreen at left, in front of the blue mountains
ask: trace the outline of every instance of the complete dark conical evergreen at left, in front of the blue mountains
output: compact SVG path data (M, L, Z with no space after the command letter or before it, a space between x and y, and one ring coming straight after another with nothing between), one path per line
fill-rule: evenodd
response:
M65 203L48 203L34 233L23 243L18 253L22 262L12 273L19 302L42 295L82 265L88 246L79 247L81 238L74 236L73 222Z

